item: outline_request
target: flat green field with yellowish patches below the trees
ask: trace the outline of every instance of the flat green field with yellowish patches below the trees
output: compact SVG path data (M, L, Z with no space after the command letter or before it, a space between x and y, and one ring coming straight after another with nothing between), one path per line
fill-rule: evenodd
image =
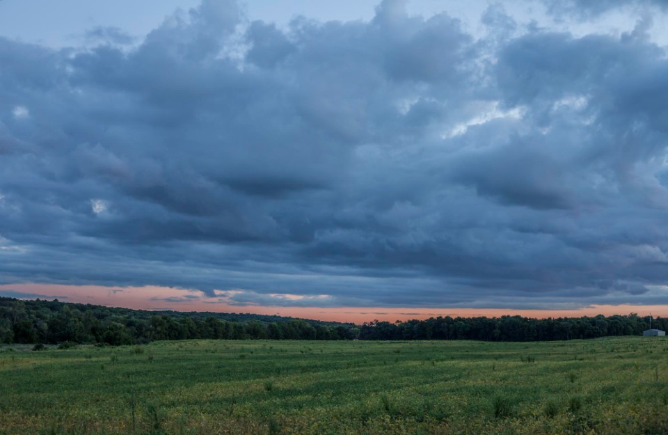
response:
M668 340L0 350L0 434L665 434Z

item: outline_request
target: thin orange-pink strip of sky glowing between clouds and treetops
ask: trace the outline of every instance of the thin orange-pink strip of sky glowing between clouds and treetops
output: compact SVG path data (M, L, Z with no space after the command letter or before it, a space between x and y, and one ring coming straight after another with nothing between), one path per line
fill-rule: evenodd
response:
M216 313L252 313L362 324L372 320L395 322L429 317L582 317L595 315L649 315L668 317L668 305L596 305L578 310L513 310L505 308L387 308L387 307L287 307L237 306L212 302L199 290L171 287L105 287L100 285L13 284L0 285L0 292L34 294L26 299L56 299L62 302L91 303L137 310L209 311ZM39 296L38 296L39 295ZM192 299L184 297L190 295ZM8 294L11 296L11 294ZM159 299L153 299L159 298ZM173 301L165 300L173 298ZM197 299L196 299L197 298ZM175 301L178 299L179 301Z

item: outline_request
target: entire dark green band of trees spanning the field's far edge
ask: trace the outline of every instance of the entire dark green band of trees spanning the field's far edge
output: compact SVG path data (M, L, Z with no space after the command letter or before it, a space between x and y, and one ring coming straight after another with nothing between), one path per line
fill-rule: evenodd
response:
M106 343L132 345L153 340L213 338L227 340L487 340L535 341L640 335L649 317L532 319L502 317L432 317L408 322L321 322L278 315L182 313L109 308L57 299L23 301L0 297L0 343ZM668 329L668 318L651 326Z

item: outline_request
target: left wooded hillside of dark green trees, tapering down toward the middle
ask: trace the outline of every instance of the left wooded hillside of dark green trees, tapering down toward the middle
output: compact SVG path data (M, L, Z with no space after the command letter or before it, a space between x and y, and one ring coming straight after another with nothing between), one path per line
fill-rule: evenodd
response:
M230 320L226 320L228 318ZM22 301L0 297L0 343L106 343L153 340L351 340L353 324L291 317L154 312L81 303Z

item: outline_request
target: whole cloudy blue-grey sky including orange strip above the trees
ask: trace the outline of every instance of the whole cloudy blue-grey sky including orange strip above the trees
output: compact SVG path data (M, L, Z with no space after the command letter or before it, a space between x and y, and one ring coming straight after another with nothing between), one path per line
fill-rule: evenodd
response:
M0 296L668 315L663 1L0 1Z

